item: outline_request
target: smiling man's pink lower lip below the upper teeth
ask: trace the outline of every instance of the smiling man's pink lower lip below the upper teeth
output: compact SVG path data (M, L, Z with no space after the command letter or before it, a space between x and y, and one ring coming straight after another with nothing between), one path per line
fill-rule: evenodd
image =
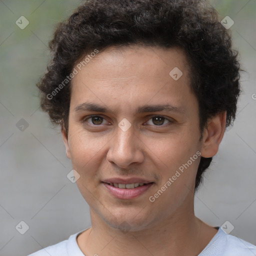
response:
M112 179L111 179L112 180ZM115 179L116 180L116 179ZM127 180L125 180L126 182ZM130 181L128 181L130 182ZM130 183L135 183L135 182L130 182L130 183L124 183L124 184L130 184ZM113 182L113 183L122 183L121 181L119 182ZM140 183L146 183L146 182L140 182ZM135 197L138 197L142 195L152 184L153 182L147 182L146 184L142 186L137 186L134 188L119 188L119 187L114 187L109 185L108 183L102 182L102 184L106 187L108 192L113 195L114 197L118 199L132 199Z

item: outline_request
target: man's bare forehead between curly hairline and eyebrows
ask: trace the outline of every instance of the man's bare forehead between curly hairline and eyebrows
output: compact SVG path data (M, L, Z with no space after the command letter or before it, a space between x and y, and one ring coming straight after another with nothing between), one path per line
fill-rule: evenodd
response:
M88 99L116 107L121 103L126 109L148 101L178 106L193 96L189 66L179 48L109 47L76 69L70 108Z

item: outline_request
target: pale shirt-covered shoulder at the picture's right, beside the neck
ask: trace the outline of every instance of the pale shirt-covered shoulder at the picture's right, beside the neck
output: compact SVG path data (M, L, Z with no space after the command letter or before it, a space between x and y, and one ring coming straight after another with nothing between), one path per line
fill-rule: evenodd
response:
M226 234L221 228L198 256L255 256L256 246L236 236Z

